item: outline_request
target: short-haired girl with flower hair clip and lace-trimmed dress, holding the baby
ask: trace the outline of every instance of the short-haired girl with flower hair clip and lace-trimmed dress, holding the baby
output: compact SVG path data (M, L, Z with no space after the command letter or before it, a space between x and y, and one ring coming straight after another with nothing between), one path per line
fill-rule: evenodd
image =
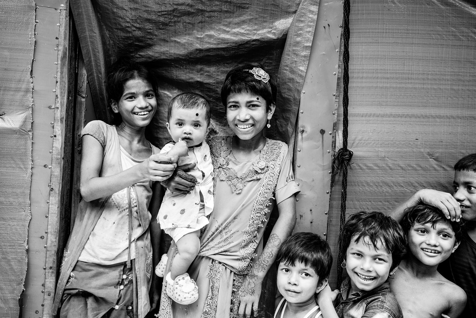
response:
M296 222L298 187L288 146L264 136L276 108L275 84L263 69L245 65L228 72L221 99L234 135L209 142L214 208L200 237L198 256L188 269L197 282L199 297L193 304L180 305L164 292L165 283L159 317L256 315L263 278ZM188 192L194 186L177 178L169 182L173 192ZM275 205L279 217L263 246L263 233ZM168 268L175 253L172 245Z

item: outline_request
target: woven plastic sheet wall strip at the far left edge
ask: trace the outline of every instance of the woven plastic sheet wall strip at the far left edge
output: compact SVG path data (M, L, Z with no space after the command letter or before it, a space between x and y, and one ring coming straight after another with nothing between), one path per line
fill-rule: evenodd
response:
M27 268L34 28L33 1L0 2L0 317L18 317Z

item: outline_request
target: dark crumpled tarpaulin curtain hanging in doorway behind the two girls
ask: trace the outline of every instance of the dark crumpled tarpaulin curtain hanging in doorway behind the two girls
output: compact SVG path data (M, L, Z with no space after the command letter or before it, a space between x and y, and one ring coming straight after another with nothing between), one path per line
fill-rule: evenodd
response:
M96 114L111 122L104 75L119 56L159 73L159 110L148 128L162 146L165 105L183 91L212 103L219 133L228 125L219 99L225 75L240 63L263 65L278 82L277 113L268 136L288 142L316 25L317 0L72 0Z

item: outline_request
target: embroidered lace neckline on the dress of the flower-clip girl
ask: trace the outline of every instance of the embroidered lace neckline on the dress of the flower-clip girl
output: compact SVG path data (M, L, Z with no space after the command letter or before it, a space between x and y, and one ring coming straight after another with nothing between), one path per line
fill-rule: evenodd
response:
M253 166L240 175L238 175L235 169L229 167L231 149L228 149L227 140L225 139L224 141L218 150L219 156L212 157L212 163L216 169L217 177L222 181L226 181L233 193L240 193L248 181L260 179L269 170L267 158L269 159L269 156L274 153L273 149L271 149L272 147L269 146L271 140L266 138L265 146L253 161ZM239 162L239 160L236 161Z

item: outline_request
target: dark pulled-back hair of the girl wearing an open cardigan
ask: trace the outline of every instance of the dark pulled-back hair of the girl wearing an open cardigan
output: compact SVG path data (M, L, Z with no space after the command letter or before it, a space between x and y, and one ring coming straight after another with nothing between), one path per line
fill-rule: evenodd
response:
M108 102L110 103L111 101L114 101L119 103L119 100L124 93L124 84L133 79L141 79L149 82L150 85L152 85L156 98L158 97L159 91L155 74L146 68L144 64L123 57L112 64L110 72L106 78ZM114 124L118 125L121 122L121 115L119 113L114 113Z

